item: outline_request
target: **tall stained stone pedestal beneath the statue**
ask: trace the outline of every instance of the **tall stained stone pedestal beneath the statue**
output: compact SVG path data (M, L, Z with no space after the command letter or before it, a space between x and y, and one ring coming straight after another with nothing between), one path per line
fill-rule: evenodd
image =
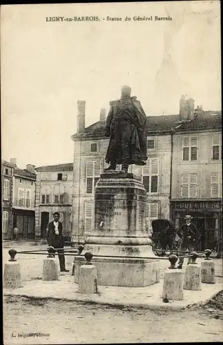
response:
M95 186L95 227L84 253L93 253L98 284L148 286L159 282L159 260L145 230L146 190L139 177L107 171ZM154 257L154 259L146 259ZM79 281L82 255L75 257Z

